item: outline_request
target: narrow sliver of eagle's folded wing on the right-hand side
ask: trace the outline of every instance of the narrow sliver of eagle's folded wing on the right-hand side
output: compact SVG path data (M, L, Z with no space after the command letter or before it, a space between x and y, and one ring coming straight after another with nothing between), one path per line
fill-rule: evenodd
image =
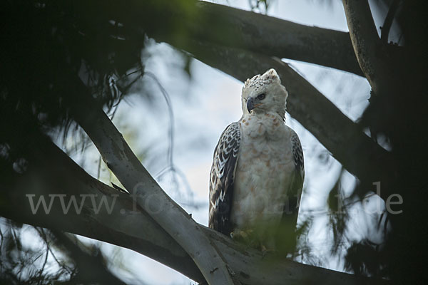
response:
M295 248L295 230L297 224L297 214L299 212L300 197L302 196L303 180L305 180L305 165L303 161L303 150L299 137L292 131L291 136L292 159L295 164L295 171L290 175L288 184L287 201L285 201L282 212L282 237L284 250L292 252Z

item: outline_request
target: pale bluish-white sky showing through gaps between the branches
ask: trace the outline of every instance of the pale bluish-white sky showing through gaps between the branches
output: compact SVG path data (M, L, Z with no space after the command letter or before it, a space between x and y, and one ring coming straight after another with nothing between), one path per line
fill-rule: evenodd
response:
M249 9L247 0L214 1L228 4L240 9ZM345 14L341 1L291 1L277 0L267 13L281 19L299 24L332 28L347 31ZM200 224L208 224L208 180L213 150L220 134L230 123L239 120L242 115L240 107L240 90L243 83L227 74L206 66L200 61L190 62L190 74L183 72L185 58L165 43L147 41L145 56L146 71L153 73L161 86L165 88L172 103L173 110L173 163L179 173L172 172L159 177L159 172L168 166L168 107L161 89L153 78L141 81L143 92L135 92L126 97L116 112L113 123L123 133L124 138L134 152L143 157L143 164L156 177L163 189L184 209L193 214ZM312 83L328 99L337 105L345 115L357 120L367 107L370 86L365 78L351 73L323 68L309 63L284 60L290 63L307 81ZM285 86L287 87L287 86ZM150 93L150 103L145 95ZM305 191L300 206L300 216L319 213L311 227L308 239L316 248L317 254L323 256L331 244L331 232L327 228L327 196L337 177L342 175L342 191L349 195L355 179L347 172L341 172L337 162L325 147L314 138L296 120L286 115L287 125L300 137L305 155ZM99 155L94 147L83 154L74 153L76 160L89 174L97 177ZM341 174L342 173L342 174ZM101 180L110 180L105 165L101 167ZM175 179L175 180L174 180ZM174 184L177 181L177 185ZM115 182L116 183L116 182ZM376 203L376 198L367 199L367 204ZM189 204L195 204L192 207ZM364 207L355 207L356 215L364 212ZM363 214L364 215L364 214ZM299 217L301 221L302 217ZM369 219L372 215L368 214ZM355 231L352 237L363 237L367 231L367 218L353 219L351 223L361 232ZM370 224L370 223L369 223ZM89 239L82 240L93 242ZM118 254L118 248L102 244L105 254ZM138 277L147 284L193 284L190 279L169 269L156 261L128 249L121 249L126 270L113 268L121 278L132 278L129 272L138 273ZM339 259L324 260L322 266L342 270Z

